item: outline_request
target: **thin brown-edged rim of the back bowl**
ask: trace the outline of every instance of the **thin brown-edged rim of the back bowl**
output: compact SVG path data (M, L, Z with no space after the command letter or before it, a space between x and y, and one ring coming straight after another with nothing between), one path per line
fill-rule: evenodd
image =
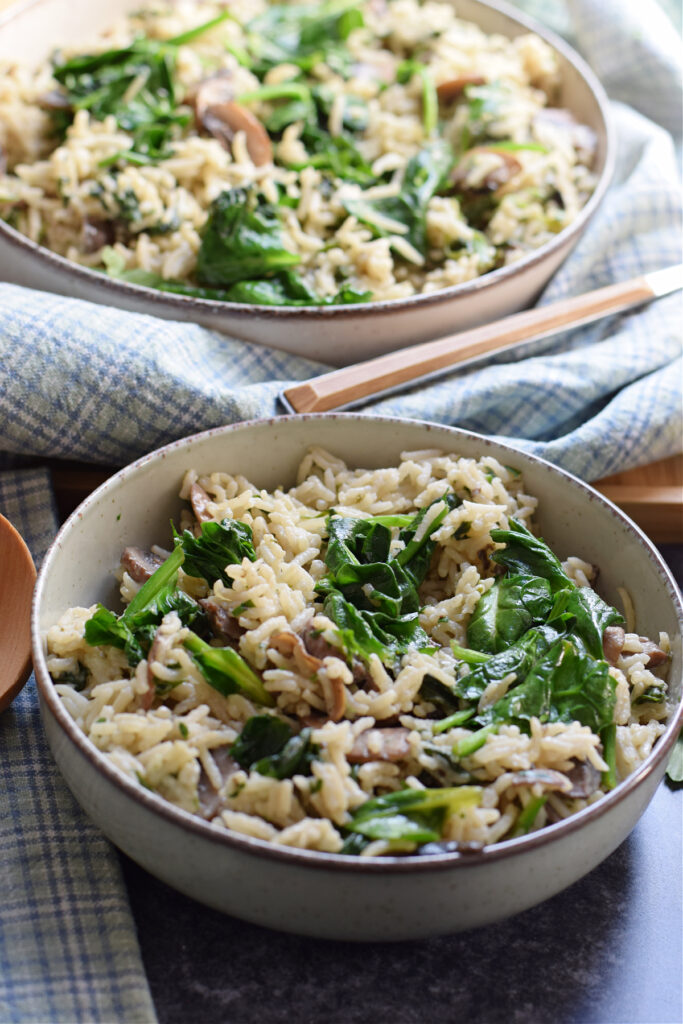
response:
M42 2L43 0L25 0L24 3L18 3L15 7L10 7L5 16L0 17L0 32L3 25L19 17L26 10L39 6ZM540 36L553 49L559 52L588 86L596 101L597 111L602 121L604 163L590 199L570 224L559 231L549 242L546 242L545 245L532 250L514 263L499 267L496 270L489 270L487 273L474 278L472 281L463 282L459 285L451 285L435 292L418 293L402 299L382 299L377 302L349 303L348 305L338 306L264 306L254 305L253 303L219 302L215 299L175 295L171 292L160 292L142 285L133 285L129 282L118 281L100 271L82 266L79 263L74 263L67 259L66 256L59 256L45 246L33 242L26 234L11 227L2 219L0 219L0 243L4 241L10 248L13 247L28 254L37 260L47 271L51 269L57 272L60 280L63 280L63 275L71 275L75 279L76 283L80 283L83 287L96 285L97 288L110 292L113 301L118 295L123 298L127 297L131 302L148 302L152 308L145 311L150 314L156 314L158 310L164 309L168 313L176 312L178 318L182 318L183 313L193 312L197 316L204 316L205 318L214 316L220 321L220 314L223 312L238 321L259 318L272 323L281 322L283 326L290 319L297 322L303 319L308 323L326 321L330 317L350 321L354 317L370 315L377 318L385 314L397 313L401 310L411 311L416 308L422 309L423 307L440 306L444 303L466 298L477 292L486 291L501 282L509 281L523 271L538 266L548 257L559 252L571 240L574 240L574 242L579 240L602 203L609 187L616 159L616 134L609 109L609 100L600 81L587 61L552 29L546 28L546 26L537 22L536 18L530 17L523 11L507 3L506 0L469 0L469 2L502 14L526 31Z

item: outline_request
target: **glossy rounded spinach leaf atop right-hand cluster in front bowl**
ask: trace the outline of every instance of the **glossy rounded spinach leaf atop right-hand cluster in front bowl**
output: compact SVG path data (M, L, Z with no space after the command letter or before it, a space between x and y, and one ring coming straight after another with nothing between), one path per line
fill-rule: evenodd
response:
M496 654L548 618L553 606L550 585L540 577L500 577L483 594L467 628L475 650Z

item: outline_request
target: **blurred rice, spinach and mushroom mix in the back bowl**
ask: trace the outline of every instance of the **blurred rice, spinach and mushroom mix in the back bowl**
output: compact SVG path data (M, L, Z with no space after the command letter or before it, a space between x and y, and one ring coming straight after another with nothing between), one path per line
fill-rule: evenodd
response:
M81 265L265 305L402 299L553 239L595 137L554 51L452 5L150 7L0 86L0 215Z

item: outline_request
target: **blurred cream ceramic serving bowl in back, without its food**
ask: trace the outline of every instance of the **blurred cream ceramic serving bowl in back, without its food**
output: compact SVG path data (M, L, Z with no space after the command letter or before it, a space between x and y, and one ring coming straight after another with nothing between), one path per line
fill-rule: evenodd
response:
M139 0L25 0L0 18L0 59L35 65L61 40L87 41ZM458 0L459 16L486 33L512 39L536 32L557 52L559 105L597 137L595 191L577 219L518 262L428 295L334 308L273 308L215 302L156 292L71 263L0 221L0 266L5 280L90 299L167 319L191 321L240 338L335 366L344 366L488 323L530 305L567 257L602 202L613 165L614 139L602 87L561 39L505 3Z

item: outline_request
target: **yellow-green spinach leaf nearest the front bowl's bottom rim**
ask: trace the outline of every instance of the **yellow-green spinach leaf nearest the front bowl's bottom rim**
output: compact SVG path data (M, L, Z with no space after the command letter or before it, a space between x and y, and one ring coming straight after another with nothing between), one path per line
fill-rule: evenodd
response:
M445 820L474 807L481 787L460 785L433 790L399 790L366 801L346 828L368 839L422 844L441 839Z

